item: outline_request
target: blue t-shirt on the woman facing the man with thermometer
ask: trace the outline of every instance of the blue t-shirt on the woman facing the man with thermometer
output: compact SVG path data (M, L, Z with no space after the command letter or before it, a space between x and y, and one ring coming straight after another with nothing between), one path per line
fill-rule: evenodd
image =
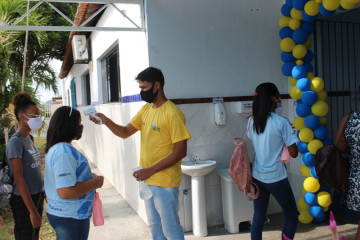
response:
M62 199L56 189L75 186L92 178L86 157L71 144L57 143L45 156L45 192L48 198L46 212L75 219L86 219L92 215L95 190L76 198Z

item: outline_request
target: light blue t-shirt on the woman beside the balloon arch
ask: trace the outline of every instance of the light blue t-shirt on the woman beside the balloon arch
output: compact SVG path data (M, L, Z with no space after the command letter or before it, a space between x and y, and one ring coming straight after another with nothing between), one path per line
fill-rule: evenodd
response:
M253 122L253 118L250 118L247 134L255 150L252 177L264 183L274 183L287 178L286 166L280 160L281 150L284 144L290 146L298 141L289 120L271 113L264 132L260 134L255 132Z

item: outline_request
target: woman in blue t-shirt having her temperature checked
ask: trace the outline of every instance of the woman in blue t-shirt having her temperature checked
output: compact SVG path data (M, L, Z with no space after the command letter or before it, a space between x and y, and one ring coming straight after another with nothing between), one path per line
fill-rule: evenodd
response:
M83 131L80 112L58 108L50 120L45 148L46 212L57 240L89 235L95 189L104 177L91 173L88 160L71 145Z

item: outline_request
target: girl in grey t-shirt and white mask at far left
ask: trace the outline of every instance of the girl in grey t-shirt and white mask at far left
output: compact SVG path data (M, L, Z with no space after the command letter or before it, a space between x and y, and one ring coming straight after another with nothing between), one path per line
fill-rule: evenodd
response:
M12 103L18 130L6 146L6 159L15 185L10 199L14 234L16 240L34 240L39 239L45 193L40 154L30 131L41 127L42 117L36 103L25 92L17 94Z

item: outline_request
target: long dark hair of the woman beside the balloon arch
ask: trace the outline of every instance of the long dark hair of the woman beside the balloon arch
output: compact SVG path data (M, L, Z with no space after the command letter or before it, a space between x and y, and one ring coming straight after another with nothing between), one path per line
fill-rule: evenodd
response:
M277 97L279 90L275 84L267 82L257 86L255 92L253 101L254 130L260 134L264 132L267 119L271 114L272 97Z

